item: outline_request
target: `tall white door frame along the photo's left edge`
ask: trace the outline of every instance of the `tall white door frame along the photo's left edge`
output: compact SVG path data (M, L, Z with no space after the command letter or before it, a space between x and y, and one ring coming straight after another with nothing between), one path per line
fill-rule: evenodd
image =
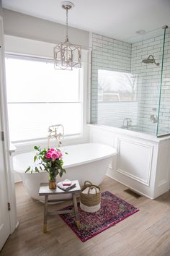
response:
M17 204L14 189L14 179L12 174L12 156L10 155L10 141L9 141L9 124L7 114L7 98L6 98L6 79L5 79L5 58L4 58L4 24L3 18L0 16L1 26L1 77L0 77L0 115L2 123L2 131L4 131L4 164L6 167L6 188L8 202L10 203L9 218L10 218L10 230L11 234L18 226L17 221Z

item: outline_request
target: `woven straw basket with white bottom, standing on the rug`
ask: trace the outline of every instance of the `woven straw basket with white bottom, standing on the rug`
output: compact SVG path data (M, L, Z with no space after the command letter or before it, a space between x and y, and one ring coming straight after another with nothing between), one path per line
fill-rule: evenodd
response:
M89 181L84 182L80 193L80 208L88 213L94 213L100 209L101 191L100 187Z

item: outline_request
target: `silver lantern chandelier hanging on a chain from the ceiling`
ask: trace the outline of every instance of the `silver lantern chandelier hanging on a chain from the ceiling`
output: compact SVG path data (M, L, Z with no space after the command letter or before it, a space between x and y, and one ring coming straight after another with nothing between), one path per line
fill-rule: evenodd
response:
M66 40L54 47L54 68L72 70L81 67L81 46L73 45L68 40L68 10L74 7L70 1L61 4L66 9Z

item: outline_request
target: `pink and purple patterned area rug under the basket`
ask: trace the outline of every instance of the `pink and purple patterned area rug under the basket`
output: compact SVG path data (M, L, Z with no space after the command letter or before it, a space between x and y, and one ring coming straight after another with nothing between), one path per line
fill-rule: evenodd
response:
M72 208L73 205L70 205L62 210ZM79 239L85 242L136 212L138 209L133 205L106 191L102 193L101 208L96 213L86 213L79 207L81 230L76 227L74 213L61 214L60 216Z

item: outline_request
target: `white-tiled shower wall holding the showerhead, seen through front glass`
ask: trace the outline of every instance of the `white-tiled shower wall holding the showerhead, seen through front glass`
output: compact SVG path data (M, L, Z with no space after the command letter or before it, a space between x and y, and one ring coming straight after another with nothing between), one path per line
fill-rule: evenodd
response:
M138 76L136 131L156 135L164 30L159 28L133 39L131 72Z

